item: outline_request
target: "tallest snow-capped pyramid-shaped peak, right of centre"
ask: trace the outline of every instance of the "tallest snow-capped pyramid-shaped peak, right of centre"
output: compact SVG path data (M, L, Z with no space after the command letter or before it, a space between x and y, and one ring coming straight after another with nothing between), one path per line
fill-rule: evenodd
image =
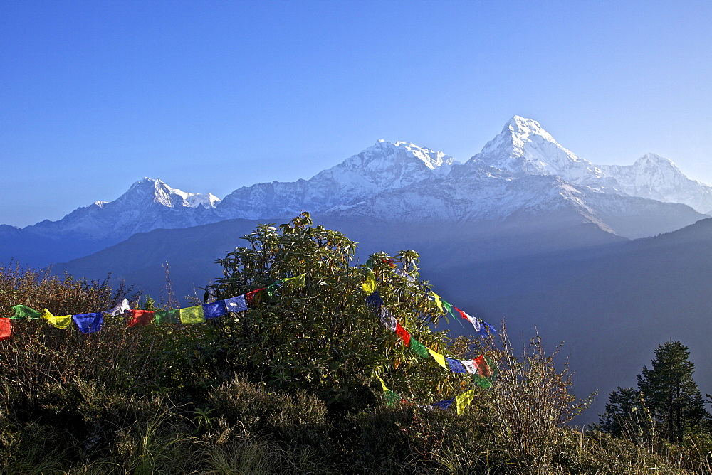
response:
M572 183L600 178L603 172L556 142L539 122L515 115L468 164L533 175L558 175Z

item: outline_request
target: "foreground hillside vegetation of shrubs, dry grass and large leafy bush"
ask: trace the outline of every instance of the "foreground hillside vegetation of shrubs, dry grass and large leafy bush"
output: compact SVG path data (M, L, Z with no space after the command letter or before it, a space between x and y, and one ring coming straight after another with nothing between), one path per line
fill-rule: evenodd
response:
M375 255L384 302L412 335L454 358L485 354L488 389L423 361L363 304L370 272L350 264L355 243L308 215L260 226L229 253L205 300L267 287L243 314L192 326L98 333L16 321L0 341L0 464L7 473L709 473L706 426L661 422L644 409L609 426L567 426L589 400L570 394L538 338L515 352L497 338L450 341L418 279L417 254ZM404 269L392 272L392 266ZM299 284L268 287L301 274ZM291 282L291 281L290 281ZM0 267L0 308L56 315L108 309L128 297L108 281ZM389 405L380 375L403 400ZM648 378L651 380L651 378ZM462 415L426 407L477 388ZM642 402L639 407L648 407ZM697 407L697 406L696 406ZM611 410L616 407L611 406ZM644 416L639 417L640 414ZM644 432L633 427L634 415ZM666 424L666 425L665 425ZM664 427L670 432L659 430ZM644 437L639 437L644 434ZM639 437L639 438L636 438Z

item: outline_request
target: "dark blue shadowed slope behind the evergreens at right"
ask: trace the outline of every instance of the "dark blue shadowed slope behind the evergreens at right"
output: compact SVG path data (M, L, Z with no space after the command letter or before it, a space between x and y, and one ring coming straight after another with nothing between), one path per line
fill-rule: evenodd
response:
M587 420L617 385L634 386L669 338L690 347L696 380L712 393L712 220L623 244L464 262L433 274L444 298L461 299L485 319L506 316L511 336L527 338L536 328L550 344L564 341L577 392L601 391Z

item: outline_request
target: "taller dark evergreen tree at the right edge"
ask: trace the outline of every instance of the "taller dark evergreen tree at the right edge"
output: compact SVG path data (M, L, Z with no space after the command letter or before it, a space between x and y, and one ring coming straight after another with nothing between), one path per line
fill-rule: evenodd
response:
M692 378L695 365L689 361L688 348L679 341L669 341L655 350L651 368L637 376L638 388L645 397L651 416L661 433L679 440L688 430L708 421L702 394Z

